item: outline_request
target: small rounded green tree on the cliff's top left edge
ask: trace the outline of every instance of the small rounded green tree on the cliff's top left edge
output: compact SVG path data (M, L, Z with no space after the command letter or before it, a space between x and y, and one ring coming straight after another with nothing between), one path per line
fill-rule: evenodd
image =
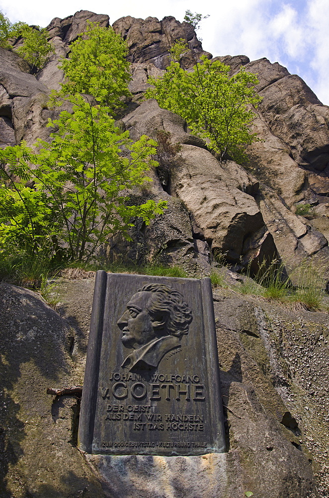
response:
M32 73L40 69L47 61L49 54L54 52L48 42L48 32L45 28L17 23L13 26L13 34L23 38L23 45L16 49L16 53L31 65Z

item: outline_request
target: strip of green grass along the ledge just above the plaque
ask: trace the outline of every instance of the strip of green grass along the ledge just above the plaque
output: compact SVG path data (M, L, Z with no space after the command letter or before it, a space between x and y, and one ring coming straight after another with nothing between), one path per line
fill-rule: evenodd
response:
M223 265L223 261L221 261ZM77 262L50 263L43 251L35 256L28 251L17 254L0 253L0 280L26 287L39 293L52 307L56 307L56 295L52 286L57 277L69 279L93 278L95 271L103 269L112 273L133 273L154 276L191 277L179 266L167 267L161 264L138 265L116 261L112 263L86 264ZM303 308L309 311L329 312L329 299L326 299L325 269L315 266L310 261L303 262L288 278L282 262L273 259L266 267L260 264L256 274L251 276L250 266L243 275L243 282L230 284L225 275L217 269L210 272L214 289L231 289L239 294L250 295L267 301L281 302L292 308ZM295 285L292 284L292 280Z

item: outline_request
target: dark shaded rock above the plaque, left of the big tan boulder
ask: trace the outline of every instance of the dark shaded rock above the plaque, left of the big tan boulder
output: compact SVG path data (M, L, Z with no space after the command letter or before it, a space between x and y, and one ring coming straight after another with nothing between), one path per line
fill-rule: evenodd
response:
M203 234L195 234L191 218L186 207L179 199L171 197L161 187L159 178L154 177L154 184L146 191L132 196L132 202L141 204L147 199L159 202L167 201L165 214L145 225L135 221L129 230L132 241L122 236L113 237L106 246L106 258L112 261L124 260L128 263L148 265L150 263L165 266L180 266L188 274L204 275L211 271L212 253Z

